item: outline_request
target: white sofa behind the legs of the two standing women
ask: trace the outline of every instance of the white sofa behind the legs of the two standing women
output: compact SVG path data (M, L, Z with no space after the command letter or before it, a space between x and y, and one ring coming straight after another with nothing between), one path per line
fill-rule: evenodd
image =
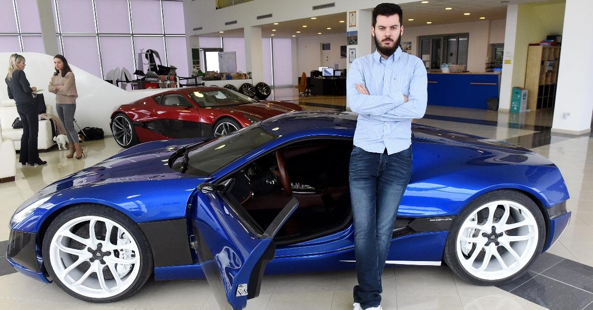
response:
M53 108L49 104L45 105L47 113L53 114ZM21 136L23 129L13 129L12 122L18 117L17 105L12 99L2 99L0 107L0 127L2 127L2 139L11 139L14 142L16 151L21 149ZM52 123L49 120L39 121L39 136L37 140L37 149L39 152L47 152L55 145L52 135Z

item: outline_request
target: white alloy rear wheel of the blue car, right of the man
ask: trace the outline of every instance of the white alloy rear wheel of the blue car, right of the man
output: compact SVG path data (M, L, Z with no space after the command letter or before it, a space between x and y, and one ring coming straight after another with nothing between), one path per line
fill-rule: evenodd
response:
M455 252L461 267L480 280L515 276L532 260L540 238L530 209L510 200L477 207L463 219Z

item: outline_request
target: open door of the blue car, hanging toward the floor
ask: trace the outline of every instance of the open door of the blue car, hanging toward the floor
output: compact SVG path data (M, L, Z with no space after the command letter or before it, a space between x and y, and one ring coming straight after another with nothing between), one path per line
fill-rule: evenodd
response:
M293 198L262 229L232 195L225 194L232 183L230 179L197 187L192 202L193 245L220 308L237 310L259 295L263 271L276 252L272 239L298 201Z

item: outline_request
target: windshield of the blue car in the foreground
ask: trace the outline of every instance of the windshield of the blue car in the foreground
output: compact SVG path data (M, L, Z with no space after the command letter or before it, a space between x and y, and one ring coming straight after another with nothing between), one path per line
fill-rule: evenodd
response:
M276 136L253 124L227 136L189 149L186 156L179 156L172 168L186 174L211 175L253 149L275 139ZM184 158L186 157L186 158ZM187 164L184 161L187 160Z

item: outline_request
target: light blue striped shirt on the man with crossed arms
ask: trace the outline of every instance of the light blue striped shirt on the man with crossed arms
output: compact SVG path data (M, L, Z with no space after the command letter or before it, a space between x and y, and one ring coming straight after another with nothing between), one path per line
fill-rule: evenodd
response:
M356 90L363 84L370 95ZM426 112L426 68L398 47L388 59L377 50L356 58L346 79L346 101L358 113L354 145L367 152L394 154L412 144L412 119ZM404 95L409 100L404 103Z

